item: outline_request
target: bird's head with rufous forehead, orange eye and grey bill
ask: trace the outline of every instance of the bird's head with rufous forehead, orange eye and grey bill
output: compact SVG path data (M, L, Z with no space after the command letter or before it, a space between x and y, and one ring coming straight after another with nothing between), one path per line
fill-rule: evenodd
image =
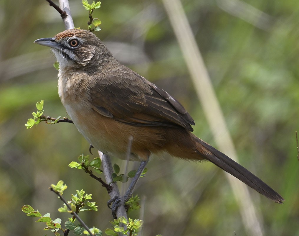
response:
M34 43L51 47L60 68L100 63L101 58L111 55L98 37L82 29L65 30L56 34L54 38L42 38Z

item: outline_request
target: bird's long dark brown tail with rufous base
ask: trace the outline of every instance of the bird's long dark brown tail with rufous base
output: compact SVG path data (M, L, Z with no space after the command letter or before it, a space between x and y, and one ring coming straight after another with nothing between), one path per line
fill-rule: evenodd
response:
M184 137L180 139L181 142L176 143L174 148L176 151L172 152L170 150L170 154L189 160L208 160L274 202L283 203L284 199L280 194L240 164L192 133L188 132L187 136L189 137ZM177 153L179 155L176 155Z

